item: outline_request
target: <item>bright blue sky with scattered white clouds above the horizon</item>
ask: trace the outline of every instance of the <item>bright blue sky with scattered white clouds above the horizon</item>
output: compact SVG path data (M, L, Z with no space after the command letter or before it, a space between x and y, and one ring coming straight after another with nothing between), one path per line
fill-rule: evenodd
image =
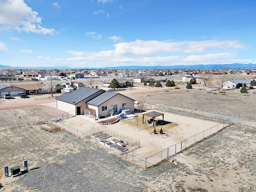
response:
M0 64L256 63L256 0L0 0Z

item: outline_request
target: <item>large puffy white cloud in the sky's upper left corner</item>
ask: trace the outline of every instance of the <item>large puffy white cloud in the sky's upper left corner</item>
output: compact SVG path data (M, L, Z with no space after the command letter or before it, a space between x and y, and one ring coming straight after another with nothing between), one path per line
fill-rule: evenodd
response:
M0 0L0 29L54 34L55 30L42 27L38 12L28 7L24 0Z

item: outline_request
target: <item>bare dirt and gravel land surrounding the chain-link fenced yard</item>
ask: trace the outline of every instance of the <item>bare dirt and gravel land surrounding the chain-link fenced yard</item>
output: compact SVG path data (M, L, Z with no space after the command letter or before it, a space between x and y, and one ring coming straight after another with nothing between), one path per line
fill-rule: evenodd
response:
M22 167L23 160L29 166L27 174L16 178L4 178L1 169L0 190L256 191L256 121L252 120L256 94L232 91L223 95L198 89L158 89L156 94L152 90L121 93L146 96L153 100L151 108L167 112L230 118L232 125L160 165L142 170L64 130L50 132L56 127L48 120L52 114L62 113L60 110L42 105L0 110L0 166ZM220 111L230 112L229 116Z

